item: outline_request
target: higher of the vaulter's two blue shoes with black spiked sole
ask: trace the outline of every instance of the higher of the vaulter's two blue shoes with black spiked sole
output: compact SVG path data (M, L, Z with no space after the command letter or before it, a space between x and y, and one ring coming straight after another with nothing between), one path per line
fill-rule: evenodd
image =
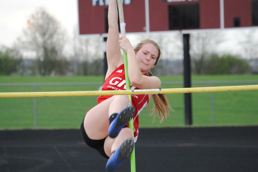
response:
M117 116L114 118L114 120L110 123L109 129L108 129L108 135L111 138L116 138L118 136L119 132L124 128L124 126L132 119L135 113L134 107L126 107L124 108Z

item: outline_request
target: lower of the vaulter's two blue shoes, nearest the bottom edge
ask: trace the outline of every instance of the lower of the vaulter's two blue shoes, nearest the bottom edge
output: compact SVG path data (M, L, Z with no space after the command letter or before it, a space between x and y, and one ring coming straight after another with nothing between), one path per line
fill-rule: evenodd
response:
M124 141L116 151L111 153L106 164L106 170L114 171L120 167L120 165L122 165L122 163L124 163L124 161L130 157L133 150L134 141L131 139Z

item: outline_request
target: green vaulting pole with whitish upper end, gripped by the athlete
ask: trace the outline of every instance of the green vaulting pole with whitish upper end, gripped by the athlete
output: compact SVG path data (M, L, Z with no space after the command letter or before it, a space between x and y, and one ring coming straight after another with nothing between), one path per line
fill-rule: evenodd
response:
M120 20L120 30L121 30L121 35L126 36L125 34L125 23L124 23L124 10L123 10L123 3L122 0L118 0L118 11L119 11L119 20ZM127 64L127 54L123 50L123 57L124 57L124 73L125 73L125 79L126 79L126 90L131 89L131 84L130 80L128 77L128 64ZM129 96L129 103L128 106L132 106L132 97L131 95ZM134 124L133 124L133 119L129 121L129 128L132 130L132 133L134 134ZM135 148L131 154L131 172L135 172Z

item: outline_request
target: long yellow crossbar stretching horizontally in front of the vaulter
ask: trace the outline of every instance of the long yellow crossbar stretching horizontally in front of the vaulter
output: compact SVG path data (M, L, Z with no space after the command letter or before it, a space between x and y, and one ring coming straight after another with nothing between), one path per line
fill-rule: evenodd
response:
M219 91L247 91L258 90L258 85L241 85L225 87L195 87L168 89L141 89L119 91L59 91L59 92L14 92L0 93L3 97L71 97L71 96L99 96L99 95L132 95L132 94L169 94L169 93L204 93Z

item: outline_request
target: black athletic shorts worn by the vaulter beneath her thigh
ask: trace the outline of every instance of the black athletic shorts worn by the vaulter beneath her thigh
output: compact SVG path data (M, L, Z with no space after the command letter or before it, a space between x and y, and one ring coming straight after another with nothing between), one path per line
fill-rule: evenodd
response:
M92 140L92 139L90 139L88 137L88 135L86 134L86 132L85 132L83 123L84 123L84 118L83 118L83 122L81 123L81 135L83 137L84 142L88 146L96 149L99 152L100 155L102 155L103 157L109 159L109 157L107 156L107 154L105 153L105 150L104 150L104 142L105 142L106 138L103 138L101 140Z

